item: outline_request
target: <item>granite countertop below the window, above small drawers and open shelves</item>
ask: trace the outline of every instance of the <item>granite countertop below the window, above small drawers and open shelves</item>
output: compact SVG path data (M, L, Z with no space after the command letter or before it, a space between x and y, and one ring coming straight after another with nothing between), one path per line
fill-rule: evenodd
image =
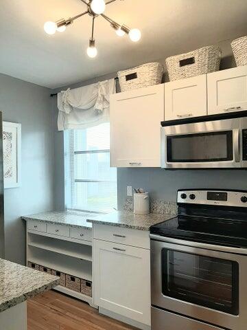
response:
M89 212L75 211L51 211L23 216L24 220L34 220L45 223L59 223L61 225L69 225L75 228L92 229L92 224L87 219L93 219L98 214Z

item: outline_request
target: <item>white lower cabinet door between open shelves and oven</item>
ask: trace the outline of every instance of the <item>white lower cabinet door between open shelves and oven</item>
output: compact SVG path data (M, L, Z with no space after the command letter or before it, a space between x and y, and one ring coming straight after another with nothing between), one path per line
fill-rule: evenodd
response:
M150 325L150 250L93 240L95 305Z

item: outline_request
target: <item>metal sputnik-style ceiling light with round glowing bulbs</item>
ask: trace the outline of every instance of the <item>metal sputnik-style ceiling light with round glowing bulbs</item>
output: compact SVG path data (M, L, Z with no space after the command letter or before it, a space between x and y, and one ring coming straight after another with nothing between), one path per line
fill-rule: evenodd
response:
M124 24L120 25L119 23L113 21L113 19L110 19L110 17L104 14L104 11L106 10L106 5L115 2L117 0L108 0L107 2L105 0L80 0L80 1L82 1L85 5L87 5L88 9L85 12L82 12L81 14L78 14L75 17L71 17L67 20L60 19L60 21L56 21L56 22L48 21L44 25L45 32L47 34L55 34L56 31L64 32L67 28L67 25L73 23L75 19L79 19L85 14L89 14L91 17L93 17L92 35L91 35L91 39L89 40L89 47L87 48L86 53L91 58L95 58L95 56L97 56L97 48L95 47L95 39L94 39L94 25L95 25L95 19L99 16L103 17L104 19L106 19L106 21L110 23L110 26L115 30L117 36L124 36L125 34L128 34L130 40L133 42L137 42L141 39L140 30L130 29Z

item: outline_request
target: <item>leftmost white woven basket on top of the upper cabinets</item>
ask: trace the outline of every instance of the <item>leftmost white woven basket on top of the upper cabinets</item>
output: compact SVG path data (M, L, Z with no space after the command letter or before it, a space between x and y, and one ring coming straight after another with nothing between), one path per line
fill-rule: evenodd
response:
M146 63L139 67L117 72L121 91L161 84L163 65Z

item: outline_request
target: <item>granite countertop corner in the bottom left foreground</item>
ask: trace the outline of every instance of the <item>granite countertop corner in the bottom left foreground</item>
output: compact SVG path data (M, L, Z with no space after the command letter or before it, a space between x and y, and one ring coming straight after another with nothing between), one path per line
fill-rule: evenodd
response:
M58 284L57 276L0 259L0 312Z

